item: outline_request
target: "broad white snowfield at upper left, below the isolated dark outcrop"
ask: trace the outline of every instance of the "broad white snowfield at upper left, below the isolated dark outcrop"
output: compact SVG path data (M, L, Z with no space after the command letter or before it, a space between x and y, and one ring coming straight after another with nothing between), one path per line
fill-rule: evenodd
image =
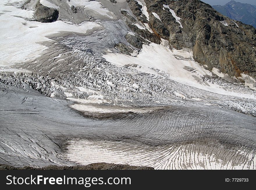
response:
M3 1L0 1L0 11L3 13L0 16L0 66L10 66L40 56L47 49L40 43L51 41L45 37L47 35L60 31L86 34L90 29L101 27L95 22L75 25L64 21L53 23L26 21L24 18L33 18L34 11L5 6Z

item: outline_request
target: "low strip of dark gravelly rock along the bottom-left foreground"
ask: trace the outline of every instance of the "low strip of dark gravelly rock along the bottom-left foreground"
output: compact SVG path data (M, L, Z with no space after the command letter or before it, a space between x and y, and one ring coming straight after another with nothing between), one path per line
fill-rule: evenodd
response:
M0 165L0 170L154 170L152 167L147 166L130 166L123 164L109 164L109 163L93 163L86 166L54 166L50 165L42 168L23 167L16 168L8 165Z

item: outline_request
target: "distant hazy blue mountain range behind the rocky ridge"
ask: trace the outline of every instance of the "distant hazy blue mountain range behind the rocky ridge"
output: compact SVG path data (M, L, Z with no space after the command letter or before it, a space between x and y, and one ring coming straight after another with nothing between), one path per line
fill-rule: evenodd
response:
M256 28L256 5L230 1L227 4L212 6L221 14Z

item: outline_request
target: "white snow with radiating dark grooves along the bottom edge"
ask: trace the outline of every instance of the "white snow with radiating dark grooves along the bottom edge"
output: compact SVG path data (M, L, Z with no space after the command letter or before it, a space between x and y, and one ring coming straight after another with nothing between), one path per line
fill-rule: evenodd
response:
M253 169L256 162L255 153L248 153L248 160L237 163L216 159L214 154L205 154L203 151L190 151L191 143L182 146L147 145L130 148L125 142L109 140L71 139L67 143L67 159L82 165L95 162L114 164L129 164L135 166L150 166L154 169ZM241 151L241 153L243 153ZM238 151L239 154L239 151Z

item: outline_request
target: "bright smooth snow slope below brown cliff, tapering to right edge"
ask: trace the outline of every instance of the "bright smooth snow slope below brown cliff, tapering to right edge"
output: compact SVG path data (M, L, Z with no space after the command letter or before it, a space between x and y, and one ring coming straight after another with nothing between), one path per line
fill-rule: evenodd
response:
M140 67L136 67L135 69L145 73L155 72L150 68L159 69L165 73L168 73L170 79L174 81L188 86L200 88L202 90L221 95L232 95L236 97L256 99L254 94L243 94L233 91L226 91L222 88L222 86L219 86L218 84L200 84L195 79L195 77L200 78L204 75L212 76L212 73L209 70L203 68L203 66L200 66L198 62L193 60L192 50L170 50L168 47L164 47L161 44L158 45L151 43L149 46L143 44L141 52L136 57L119 53L109 53L103 55L103 57L107 61L119 66L136 64ZM183 57L183 59L180 57ZM190 72L184 69L184 67L194 68L194 72ZM219 75L221 75L221 73Z

